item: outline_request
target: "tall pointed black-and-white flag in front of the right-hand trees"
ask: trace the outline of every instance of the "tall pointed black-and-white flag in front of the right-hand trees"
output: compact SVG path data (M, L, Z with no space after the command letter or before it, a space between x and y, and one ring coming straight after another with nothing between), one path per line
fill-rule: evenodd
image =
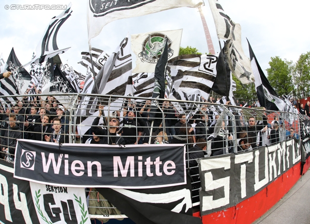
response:
M261 66L258 64L255 54L248 42L251 66L255 77L255 89L261 107L271 111L282 111L285 102L279 98L276 91L271 87L269 81L263 74Z

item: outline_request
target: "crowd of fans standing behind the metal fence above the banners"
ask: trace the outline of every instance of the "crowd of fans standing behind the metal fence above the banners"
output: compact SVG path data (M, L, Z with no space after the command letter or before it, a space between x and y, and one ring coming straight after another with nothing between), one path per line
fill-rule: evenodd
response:
M70 142L87 144L186 144L189 152L199 147L209 157L298 138L294 128L289 130L278 117L268 124L265 114L261 120L252 116L246 121L241 112L234 112L232 119L224 112L211 110L209 104L187 114L178 113L169 101L160 106L164 120L161 113L156 118L150 100L141 104L128 100L120 111L108 117L104 116L105 107L98 105L99 114L93 119L92 127L80 136L75 126L69 137L69 128L73 127L69 124L69 111L53 96L32 102L21 100L11 110L0 110L1 150L14 155L16 139L22 138L53 143L69 143L71 139ZM98 125L100 122L103 125ZM188 155L193 159L202 152Z

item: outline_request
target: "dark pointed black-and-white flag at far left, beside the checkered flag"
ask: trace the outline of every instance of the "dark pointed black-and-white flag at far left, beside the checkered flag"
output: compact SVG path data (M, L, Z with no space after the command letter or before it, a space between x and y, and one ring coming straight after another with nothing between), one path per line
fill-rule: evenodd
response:
M19 60L17 59L14 48L12 48L6 64L8 65L6 70L14 71L12 73L12 77L15 81L15 84L16 84L16 87L18 90L18 94L23 95L27 91L27 88L28 88L29 83L31 81L31 76L28 73L28 71L26 71L26 69L23 67L18 68L16 70L17 67L21 66L21 64L20 64Z

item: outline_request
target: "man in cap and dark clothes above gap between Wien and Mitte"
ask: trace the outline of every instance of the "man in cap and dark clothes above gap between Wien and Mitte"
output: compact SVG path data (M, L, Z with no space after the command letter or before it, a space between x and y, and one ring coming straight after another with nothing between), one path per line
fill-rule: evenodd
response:
M99 120L102 116L103 108L104 108L103 105L99 105L99 114L93 120L91 128L91 131L93 133L93 140L92 140L93 144L125 144L124 138L117 134L117 128L120 125L120 121L116 117L109 118L109 136L108 136L108 130L106 128L98 127Z

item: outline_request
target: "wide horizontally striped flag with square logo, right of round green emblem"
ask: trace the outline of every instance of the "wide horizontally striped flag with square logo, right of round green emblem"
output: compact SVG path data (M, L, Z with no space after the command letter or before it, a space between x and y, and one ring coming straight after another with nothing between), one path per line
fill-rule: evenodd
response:
M199 94L209 98L211 88L216 79L217 56L211 54L181 55L170 62L168 66L177 70L176 76L171 76L173 88L187 95Z

